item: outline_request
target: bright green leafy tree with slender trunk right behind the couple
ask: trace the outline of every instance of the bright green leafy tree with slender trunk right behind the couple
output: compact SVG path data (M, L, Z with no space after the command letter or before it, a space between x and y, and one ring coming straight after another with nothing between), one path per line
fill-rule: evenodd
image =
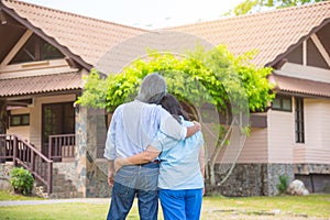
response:
M121 74L110 74L106 79L94 69L86 78L84 94L77 103L112 112L119 105L136 96L144 76L161 73L168 91L180 101L190 103L197 111L206 105L216 109L219 121L216 151L209 161L209 177L215 187L215 164L219 152L230 142L232 122L242 124L235 116L242 111L264 110L274 98L270 92L273 86L266 79L272 69L251 64L255 52L249 52L234 57L223 45L208 52L197 47L182 56L153 52L147 59L138 59ZM246 132L248 122L239 129L239 132Z

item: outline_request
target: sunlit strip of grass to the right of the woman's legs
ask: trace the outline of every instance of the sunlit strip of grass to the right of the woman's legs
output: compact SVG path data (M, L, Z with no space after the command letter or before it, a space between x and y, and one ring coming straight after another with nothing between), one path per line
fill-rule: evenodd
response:
M209 197L204 200L204 208L213 211L231 210L232 212L264 213L265 216L280 211L282 215L328 219L330 218L330 195L246 198Z

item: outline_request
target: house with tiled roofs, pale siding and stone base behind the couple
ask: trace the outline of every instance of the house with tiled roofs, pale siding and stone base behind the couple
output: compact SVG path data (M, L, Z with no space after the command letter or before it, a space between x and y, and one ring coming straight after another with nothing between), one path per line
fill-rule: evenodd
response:
M15 0L0 1L0 22L1 162L26 166L56 197L109 196L102 158L108 119L74 102L84 76L109 48L150 32ZM253 113L260 123L252 123L232 174L218 190L275 195L278 177L286 175L304 180L310 191L324 191L330 184L330 2L170 31L226 44L235 55L256 48L253 63L274 68L270 80L276 82L276 99L267 111Z

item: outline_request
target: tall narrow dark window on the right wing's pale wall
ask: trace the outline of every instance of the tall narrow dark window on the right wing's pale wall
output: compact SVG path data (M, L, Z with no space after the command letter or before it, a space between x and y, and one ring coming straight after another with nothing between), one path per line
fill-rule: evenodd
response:
M305 143L305 129L304 129L304 99L295 98L295 129L296 129L296 143Z

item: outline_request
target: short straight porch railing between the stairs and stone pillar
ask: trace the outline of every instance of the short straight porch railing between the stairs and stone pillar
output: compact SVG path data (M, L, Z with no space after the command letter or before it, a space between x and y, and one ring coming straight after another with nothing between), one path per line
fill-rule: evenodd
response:
M48 158L56 161L75 158L76 135L56 134L48 138Z

